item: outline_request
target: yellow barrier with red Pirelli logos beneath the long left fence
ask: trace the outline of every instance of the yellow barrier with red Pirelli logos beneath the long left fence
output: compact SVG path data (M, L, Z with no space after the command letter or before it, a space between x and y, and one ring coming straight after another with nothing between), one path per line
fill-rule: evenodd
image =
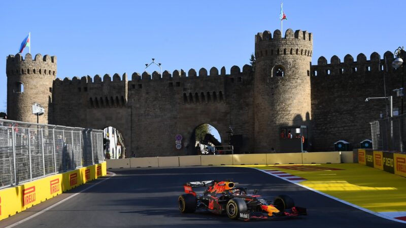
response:
M0 220L106 174L104 162L1 189Z

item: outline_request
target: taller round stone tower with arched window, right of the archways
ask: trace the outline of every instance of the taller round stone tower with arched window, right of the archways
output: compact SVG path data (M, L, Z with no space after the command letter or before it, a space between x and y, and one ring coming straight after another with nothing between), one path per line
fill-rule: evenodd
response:
M255 150L280 150L282 126L309 125L312 33L288 29L255 36ZM305 124L308 121L308 124ZM287 132L286 132L287 133ZM292 132L293 133L293 132Z

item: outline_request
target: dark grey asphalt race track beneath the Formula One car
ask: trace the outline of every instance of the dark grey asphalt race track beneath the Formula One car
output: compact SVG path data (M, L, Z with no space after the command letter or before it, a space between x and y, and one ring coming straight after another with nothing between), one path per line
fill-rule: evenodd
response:
M332 200L262 171L243 167L109 169L116 173L84 184L24 212L0 221L13 224L47 205L94 187L14 227L406 227ZM106 177L108 178L108 177ZM208 212L181 214L177 199L187 181L233 178L249 192L290 195L308 216L278 221L240 221Z

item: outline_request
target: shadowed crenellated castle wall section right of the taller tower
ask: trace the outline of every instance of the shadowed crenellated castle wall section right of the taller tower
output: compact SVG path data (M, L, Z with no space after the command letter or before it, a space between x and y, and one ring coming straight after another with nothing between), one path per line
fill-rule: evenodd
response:
M350 55L341 62L333 56L330 63L324 57L312 65L312 126L314 151L334 150L333 143L345 140L359 147L359 142L371 139L369 122L385 115L385 99L365 102L367 97L384 97L384 75L387 96L393 95L393 107L400 99L393 89L401 87L400 70L391 67L393 54L359 54L356 61ZM317 73L317 76L315 75ZM329 74L328 74L329 73Z

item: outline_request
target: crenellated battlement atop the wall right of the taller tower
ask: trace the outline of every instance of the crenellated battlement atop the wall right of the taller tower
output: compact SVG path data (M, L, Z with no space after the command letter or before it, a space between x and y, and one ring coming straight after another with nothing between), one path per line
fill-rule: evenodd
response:
M370 54L369 60L363 53L360 53L355 61L353 56L347 54L343 62L334 55L330 58L330 63L327 62L324 56L320 56L317 65L312 65L311 70L313 77L393 71L394 69L390 66L393 60L394 56L390 51L385 52L383 59L378 53L373 52Z

